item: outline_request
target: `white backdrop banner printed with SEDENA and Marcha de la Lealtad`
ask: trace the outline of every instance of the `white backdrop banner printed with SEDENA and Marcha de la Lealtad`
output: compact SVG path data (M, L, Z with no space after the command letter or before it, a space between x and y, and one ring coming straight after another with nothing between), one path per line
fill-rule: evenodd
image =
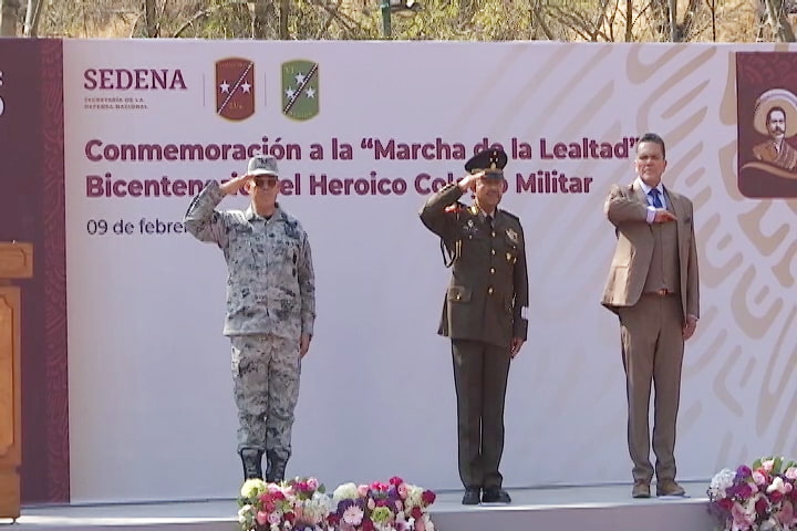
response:
M448 271L417 211L500 144L531 298L505 485L630 481L619 325L599 304L614 243L602 206L648 131L667 142L665 184L694 200L701 259L679 477L794 457L797 205L784 198L797 192L739 191L739 131L766 139L736 123L745 50L767 51L65 41L72 501L235 496L226 269L182 218L259 153L280 158L281 205L317 273L289 475L460 487L451 351L435 333Z

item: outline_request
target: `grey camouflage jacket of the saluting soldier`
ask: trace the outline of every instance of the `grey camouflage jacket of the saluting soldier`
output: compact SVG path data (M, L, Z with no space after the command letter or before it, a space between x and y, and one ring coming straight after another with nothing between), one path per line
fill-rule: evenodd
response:
M224 195L215 181L192 201L185 227L214 242L227 261L225 335L312 335L315 278L308 236L279 205L268 220L246 210L216 210Z

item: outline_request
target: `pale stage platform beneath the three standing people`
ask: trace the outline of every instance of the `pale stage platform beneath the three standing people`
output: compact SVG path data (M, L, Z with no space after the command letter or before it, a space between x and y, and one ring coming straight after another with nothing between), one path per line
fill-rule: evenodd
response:
M462 491L438 492L438 531L711 531L706 482L683 482L690 498L631 498L630 485L509 489L509 506L459 503ZM654 488L655 489L655 488ZM0 531L237 531L235 500L28 507Z

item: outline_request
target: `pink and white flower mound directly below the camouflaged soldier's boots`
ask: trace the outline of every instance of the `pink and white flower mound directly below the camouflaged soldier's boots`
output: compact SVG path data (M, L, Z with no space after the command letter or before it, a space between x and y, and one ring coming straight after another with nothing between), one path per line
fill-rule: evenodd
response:
M238 522L241 531L325 531L331 503L315 478L249 479L238 498Z

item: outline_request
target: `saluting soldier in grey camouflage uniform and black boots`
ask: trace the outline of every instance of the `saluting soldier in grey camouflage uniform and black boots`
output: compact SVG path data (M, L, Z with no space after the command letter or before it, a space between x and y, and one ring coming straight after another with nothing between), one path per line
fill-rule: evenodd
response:
M240 189L249 208L216 210ZM185 227L216 243L227 261L224 334L232 343L238 407L238 454L244 477L281 481L291 455L291 427L299 396L301 358L315 319L315 281L308 236L277 202L277 162L249 160L246 175L208 184L192 201Z

